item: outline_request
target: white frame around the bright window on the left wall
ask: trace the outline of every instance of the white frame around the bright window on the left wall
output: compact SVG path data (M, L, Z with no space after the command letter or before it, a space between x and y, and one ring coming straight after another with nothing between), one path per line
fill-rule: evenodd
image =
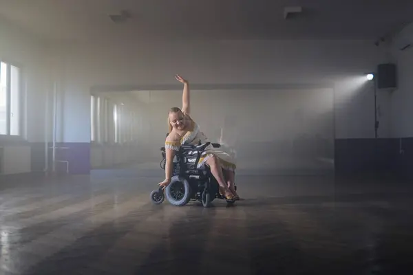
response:
M9 74L7 76L7 81L9 83L6 89L6 134L0 134L0 141L25 141L26 130L25 130L25 115L23 107L25 103L25 68L24 66L16 61L11 61L8 58L3 58L0 56L0 62L6 63ZM11 67L17 67L19 69L19 100L17 102L19 106L19 135L11 135Z

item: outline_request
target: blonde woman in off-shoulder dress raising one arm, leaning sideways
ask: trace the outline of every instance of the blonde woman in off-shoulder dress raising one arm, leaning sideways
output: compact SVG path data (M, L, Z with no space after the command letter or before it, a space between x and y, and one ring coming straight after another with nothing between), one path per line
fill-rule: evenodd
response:
M188 81L178 74L175 78L184 84L184 89L182 94L182 109L173 107L168 113L169 135L165 141L165 151L167 155L165 180L158 184L164 189L171 183L173 156L176 151L179 151L180 146L183 144L196 145L198 142L202 144L208 142L207 137L200 131L198 124L196 124L189 115L191 107ZM229 200L240 199L234 187L235 160L230 155L209 145L200 157L198 168L204 165L209 166L212 175L217 179L222 196Z

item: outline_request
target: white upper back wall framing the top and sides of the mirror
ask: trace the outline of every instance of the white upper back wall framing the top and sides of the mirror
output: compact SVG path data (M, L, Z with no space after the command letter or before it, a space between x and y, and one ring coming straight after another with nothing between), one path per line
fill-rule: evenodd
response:
M89 142L93 85L335 84L337 138L374 137L372 89L363 78L385 62L370 41L213 41L78 45L65 49L64 142ZM379 96L379 135L390 135L388 96ZM78 109L74 112L74 108ZM74 131L73 129L85 129Z

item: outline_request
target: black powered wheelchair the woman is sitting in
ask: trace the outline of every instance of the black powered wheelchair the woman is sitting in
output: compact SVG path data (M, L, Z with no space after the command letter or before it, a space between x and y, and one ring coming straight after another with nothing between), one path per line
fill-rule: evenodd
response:
M198 168L202 152L207 146L219 148L220 144L207 142L198 145L182 145L173 157L173 171L171 183L162 190L159 188L151 192L151 201L160 204L167 198L173 206L185 206L189 201L200 201L208 208L214 199L225 199L227 203L235 201L226 199L219 192L219 184L211 174L208 166ZM165 170L165 147L161 147L162 161L160 167ZM235 186L237 190L237 186Z

